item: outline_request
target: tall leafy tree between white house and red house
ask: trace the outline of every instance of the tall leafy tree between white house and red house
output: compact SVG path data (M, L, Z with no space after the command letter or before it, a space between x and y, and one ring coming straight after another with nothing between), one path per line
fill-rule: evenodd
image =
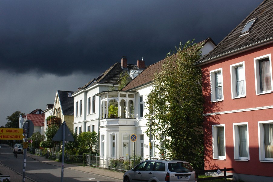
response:
M145 117L153 119L151 131L160 141L157 148L163 158L185 160L202 169L202 75L201 68L195 66L201 45L192 43L180 43L175 52L167 54L147 96L150 112Z

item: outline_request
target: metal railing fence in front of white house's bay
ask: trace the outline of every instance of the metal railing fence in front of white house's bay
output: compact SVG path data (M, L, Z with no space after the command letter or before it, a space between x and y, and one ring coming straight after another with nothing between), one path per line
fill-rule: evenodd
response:
M143 161L143 159L135 159L134 161L131 157L113 158L108 156L86 155L86 165L125 172Z

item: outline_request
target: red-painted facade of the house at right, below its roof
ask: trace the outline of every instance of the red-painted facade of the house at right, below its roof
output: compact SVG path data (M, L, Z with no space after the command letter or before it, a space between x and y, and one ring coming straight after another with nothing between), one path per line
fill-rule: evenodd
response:
M273 92L256 94L254 58L270 54L273 44L207 63L202 68L204 109L205 169L233 168L233 173L273 177L273 160L260 161L258 122L273 122ZM232 99L231 65L244 62L246 93ZM211 101L210 71L222 68L223 99ZM271 67L271 72L272 67ZM272 79L272 77L271 77ZM271 91L272 88L271 88ZM272 107L271 107L272 106ZM271 109L272 108L272 109ZM218 114L220 113L220 114ZM235 160L233 123L248 124L249 158ZM213 158L212 125L225 125L225 158Z

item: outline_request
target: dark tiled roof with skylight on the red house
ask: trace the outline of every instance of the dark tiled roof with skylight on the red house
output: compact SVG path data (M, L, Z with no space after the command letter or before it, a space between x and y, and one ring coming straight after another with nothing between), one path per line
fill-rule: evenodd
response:
M223 56L254 48L273 39L273 1L263 1L248 17L245 18L232 32L230 32L208 55L199 60L203 64ZM256 18L247 34L241 35L245 24Z

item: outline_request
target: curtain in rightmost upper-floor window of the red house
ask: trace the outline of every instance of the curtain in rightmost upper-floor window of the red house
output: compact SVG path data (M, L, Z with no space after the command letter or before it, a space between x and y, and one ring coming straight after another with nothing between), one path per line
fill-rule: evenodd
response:
M271 90L271 76L269 58L260 61L261 92Z

